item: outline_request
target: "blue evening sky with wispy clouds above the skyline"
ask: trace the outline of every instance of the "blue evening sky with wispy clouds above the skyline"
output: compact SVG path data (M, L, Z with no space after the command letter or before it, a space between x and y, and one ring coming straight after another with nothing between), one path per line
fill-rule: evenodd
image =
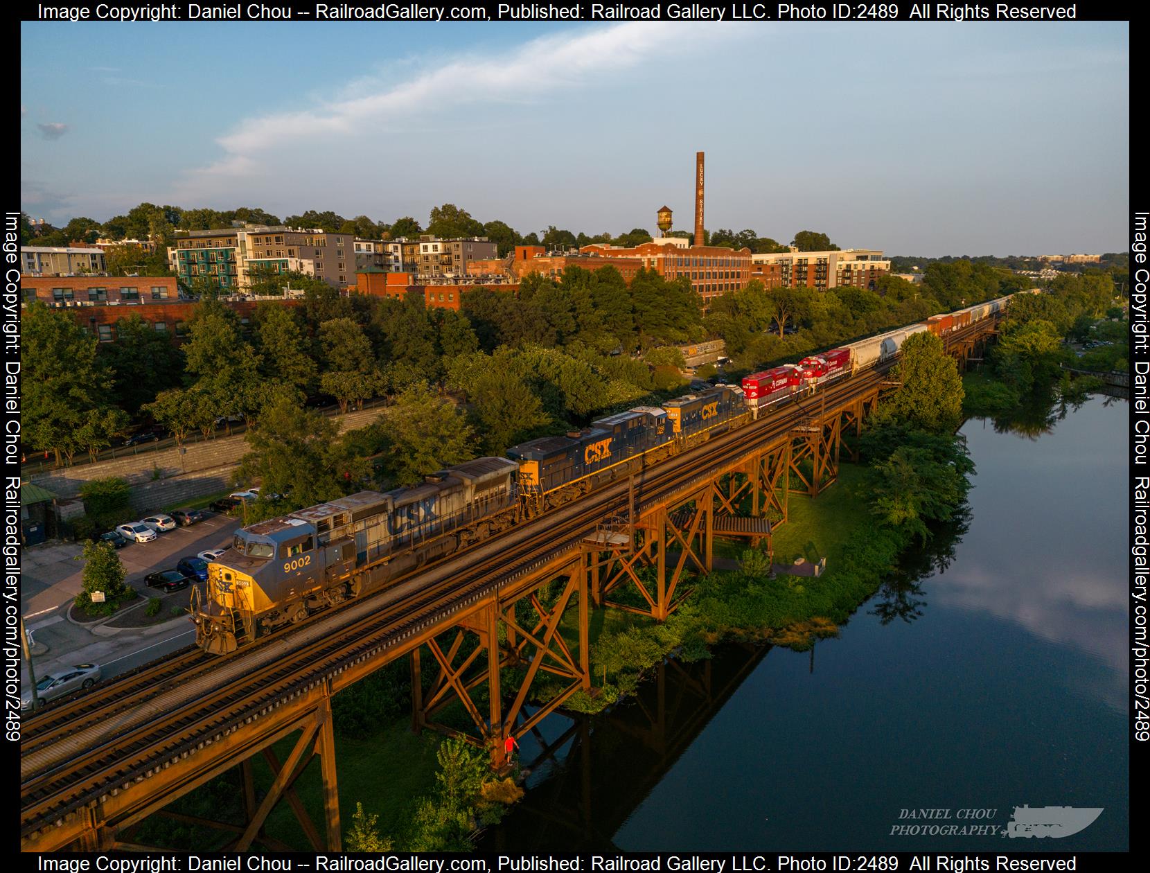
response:
M1127 23L25 22L21 202L1128 246Z

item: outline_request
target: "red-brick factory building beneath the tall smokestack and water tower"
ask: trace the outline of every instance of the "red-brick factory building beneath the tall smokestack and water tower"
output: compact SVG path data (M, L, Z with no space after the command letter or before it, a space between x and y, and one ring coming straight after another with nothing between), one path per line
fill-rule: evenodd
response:
M637 246L595 244L580 251L601 258L636 259L639 266L667 279L684 276L705 306L728 291L743 288L751 279L750 248L696 246L681 237L661 237Z

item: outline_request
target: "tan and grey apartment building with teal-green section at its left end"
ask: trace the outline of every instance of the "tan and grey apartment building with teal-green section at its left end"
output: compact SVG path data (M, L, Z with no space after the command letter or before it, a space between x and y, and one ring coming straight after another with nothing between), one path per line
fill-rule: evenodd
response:
M355 275L354 237L263 224L193 230L168 248L168 262L192 286L207 282L225 291L247 291L259 277L304 273L344 289Z

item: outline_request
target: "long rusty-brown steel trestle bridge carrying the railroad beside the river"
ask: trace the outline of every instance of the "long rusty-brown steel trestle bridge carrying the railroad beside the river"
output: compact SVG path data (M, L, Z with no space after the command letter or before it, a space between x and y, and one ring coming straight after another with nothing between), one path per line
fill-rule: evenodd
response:
M948 351L961 366L995 330L991 319L956 330L945 337ZM591 691L592 607L664 620L695 574L711 569L715 536L769 538L772 524L787 520L788 493L818 496L844 452L857 458L864 419L896 386L887 369L782 404L266 643L224 657L177 653L49 707L25 726L21 746L21 849L147 849L132 837L156 813L228 832L232 850L254 842L286 849L263 833L284 801L316 850L338 851L331 696L408 656L414 726L483 745L500 767L507 737L536 729L576 691ZM626 589L630 596L618 599ZM572 641L560 630L569 606L577 613ZM508 667L521 676L518 688L501 686ZM430 683L424 671L434 673ZM532 691L539 688L545 699ZM452 703L470 730L437 722ZM292 736L281 761L273 746ZM262 797L256 756L273 774ZM294 790L316 758L320 826ZM164 810L232 767L243 821Z

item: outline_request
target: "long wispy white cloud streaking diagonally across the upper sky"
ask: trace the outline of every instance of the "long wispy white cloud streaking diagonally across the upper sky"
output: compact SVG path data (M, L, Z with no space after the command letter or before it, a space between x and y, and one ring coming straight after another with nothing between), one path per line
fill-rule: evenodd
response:
M177 196L202 201L208 190L230 190L235 179L266 164L269 155L308 144L330 147L421 115L443 117L459 104L474 109L484 104L537 101L545 95L603 82L647 63L666 63L706 51L719 41L749 35L734 24L692 25L675 22L623 23L608 28L565 31L531 40L499 56L459 58L398 83L371 77L354 79L344 99L298 112L248 118L220 137L224 155L192 170ZM759 31L761 35L761 31ZM673 67L674 75L682 67Z

